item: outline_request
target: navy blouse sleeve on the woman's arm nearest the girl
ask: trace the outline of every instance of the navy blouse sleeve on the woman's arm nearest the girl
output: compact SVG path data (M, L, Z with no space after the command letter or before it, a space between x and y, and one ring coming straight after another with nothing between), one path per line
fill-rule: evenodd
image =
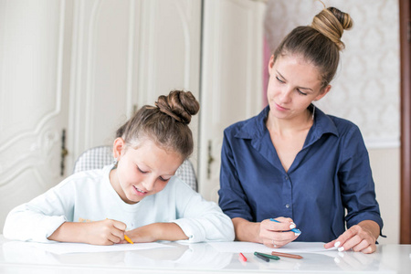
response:
M218 191L218 205L230 218L241 217L250 222L255 221L248 197L240 184L237 166L234 160L234 148L230 131L224 132L223 147L221 150L220 190Z

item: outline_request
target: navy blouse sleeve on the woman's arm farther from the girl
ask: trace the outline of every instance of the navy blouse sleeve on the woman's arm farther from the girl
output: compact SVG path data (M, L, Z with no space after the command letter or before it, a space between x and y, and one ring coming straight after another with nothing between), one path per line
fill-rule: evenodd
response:
M342 164L338 176L342 191L342 203L347 208L347 227L353 227L364 220L373 220L383 229L383 219L375 198L368 152L358 127L353 127L342 143Z

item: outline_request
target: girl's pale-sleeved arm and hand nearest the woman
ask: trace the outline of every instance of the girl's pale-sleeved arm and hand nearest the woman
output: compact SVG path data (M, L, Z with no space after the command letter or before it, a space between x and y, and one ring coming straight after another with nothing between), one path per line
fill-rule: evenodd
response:
M194 243L234 239L231 219L216 203L206 201L178 177L156 194L153 201L152 214L158 216L153 216L153 224L130 231L133 241L187 239ZM126 235L129 236L128 231Z

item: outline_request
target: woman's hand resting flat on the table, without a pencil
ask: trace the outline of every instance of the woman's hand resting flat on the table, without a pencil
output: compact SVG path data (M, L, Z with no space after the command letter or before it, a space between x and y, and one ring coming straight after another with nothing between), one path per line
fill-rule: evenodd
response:
M371 220L365 220L350 227L333 241L324 245L324 248L338 247L338 251L353 249L355 252L374 253L375 241L379 236L380 227Z

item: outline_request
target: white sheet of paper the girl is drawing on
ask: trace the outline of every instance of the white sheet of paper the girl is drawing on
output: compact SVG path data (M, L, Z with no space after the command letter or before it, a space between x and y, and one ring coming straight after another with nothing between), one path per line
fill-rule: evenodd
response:
M7 242L5 245L20 246L19 248L38 248L44 251L67 254L67 253L88 253L88 252L111 252L111 251L127 251L127 250L140 250L140 249L152 249L152 248L173 248L159 243L135 243L135 244L119 244L112 246L94 246L80 243L33 243L33 242Z

